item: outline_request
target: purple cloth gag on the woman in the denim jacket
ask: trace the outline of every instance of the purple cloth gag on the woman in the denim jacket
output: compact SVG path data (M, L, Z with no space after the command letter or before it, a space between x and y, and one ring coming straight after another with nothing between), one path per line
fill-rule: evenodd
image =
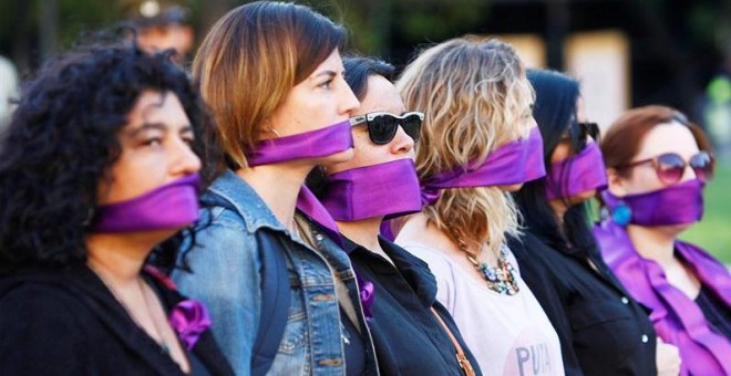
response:
M260 166L294 159L319 158L352 147L350 121L344 121L321 129L260 140L247 156L247 161L249 166Z

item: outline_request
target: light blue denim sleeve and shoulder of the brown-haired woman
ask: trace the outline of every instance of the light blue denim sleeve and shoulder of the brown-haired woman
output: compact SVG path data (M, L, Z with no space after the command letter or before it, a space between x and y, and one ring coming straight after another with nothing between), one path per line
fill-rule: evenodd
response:
M238 218L224 211L196 234L187 252L192 273L173 274L181 292L206 305L212 330L237 375L251 370L259 327L260 260L256 240Z

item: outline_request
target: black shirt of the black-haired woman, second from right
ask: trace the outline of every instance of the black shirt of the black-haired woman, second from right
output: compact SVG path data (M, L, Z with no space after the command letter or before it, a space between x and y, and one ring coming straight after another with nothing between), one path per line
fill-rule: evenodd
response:
M566 375L657 374L648 313L598 253L562 250L529 231L508 244L558 334Z

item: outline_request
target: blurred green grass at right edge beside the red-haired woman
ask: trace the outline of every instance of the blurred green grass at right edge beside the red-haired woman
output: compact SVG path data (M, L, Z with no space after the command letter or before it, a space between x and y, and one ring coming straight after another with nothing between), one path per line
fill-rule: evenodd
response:
M703 197L703 220L681 233L680 239L731 264L731 163L718 164L715 177L706 186Z

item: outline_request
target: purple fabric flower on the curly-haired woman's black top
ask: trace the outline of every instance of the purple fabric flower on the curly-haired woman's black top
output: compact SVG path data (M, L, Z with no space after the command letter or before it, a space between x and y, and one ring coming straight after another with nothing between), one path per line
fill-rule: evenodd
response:
M193 349L200 334L212 324L205 305L194 300L177 303L171 311L168 321L188 351Z

